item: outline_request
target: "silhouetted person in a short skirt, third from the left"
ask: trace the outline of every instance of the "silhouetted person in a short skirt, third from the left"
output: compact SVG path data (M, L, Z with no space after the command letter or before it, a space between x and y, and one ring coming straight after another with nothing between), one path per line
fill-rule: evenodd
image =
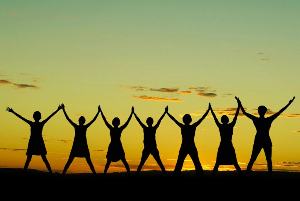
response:
M99 106L99 108L100 108L100 106ZM108 146L108 150L107 150L107 155L106 155L107 163L104 168L103 176L105 176L108 168L110 167L110 163L117 162L119 160L121 160L123 162L123 164L128 172L128 175L130 176L130 168L125 159L125 152L124 152L124 149L123 149L123 146L121 143L121 134L122 134L122 131L127 127L128 123L130 122L130 119L134 112L134 108L133 107L131 108L131 113L130 113L130 116L129 116L127 122L125 122L125 124L120 127L118 127L120 125L120 119L118 117L115 117L113 119L113 122L112 122L113 127L112 127L107 122L102 110L101 109L99 109L99 110L101 112L101 116L103 118L105 125L107 126L107 128L110 129L110 145Z

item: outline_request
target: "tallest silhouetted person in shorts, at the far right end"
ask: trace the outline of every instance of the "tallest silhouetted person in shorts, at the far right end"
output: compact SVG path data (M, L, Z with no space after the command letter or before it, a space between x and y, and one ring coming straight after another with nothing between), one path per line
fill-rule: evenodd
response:
M274 121L274 119L276 119L287 107L289 107L289 105L294 101L295 96L293 97L292 100L289 100L289 103L285 107L283 107L281 110L279 110L279 112L277 112L276 114L269 116L267 118L265 118L265 113L267 112L267 108L265 106L258 107L259 117L256 117L249 113L246 113L239 98L235 97L235 99L238 100L238 104L240 105L243 114L253 121L253 124L256 128L256 135L254 138L254 144L253 144L251 158L248 163L247 170L246 170L246 177L249 175L250 170L253 166L253 163L255 162L257 156L259 155L259 152L261 151L261 149L263 149L265 152L265 158L266 158L267 164L268 164L269 176L271 178L272 177L272 160L271 160L271 158L272 158L272 142L271 142L271 138L269 135L269 130L271 128L271 124Z

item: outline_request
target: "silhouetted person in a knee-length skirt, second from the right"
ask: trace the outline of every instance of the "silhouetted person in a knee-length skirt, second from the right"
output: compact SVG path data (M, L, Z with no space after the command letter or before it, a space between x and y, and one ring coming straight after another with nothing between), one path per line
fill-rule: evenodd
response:
M240 105L238 104L238 108L236 109L235 116L231 123L228 123L228 117L226 115L223 115L221 117L222 124L220 124L211 106L210 110L212 116L214 117L214 121L216 122L219 128L221 136L221 142L218 148L216 164L214 165L214 170L212 171L212 177L214 178L220 165L234 165L235 169L238 171L240 176L242 176L242 171L240 166L238 165L238 161L236 160L235 150L231 142L233 135L233 127L236 123L236 119L238 118Z

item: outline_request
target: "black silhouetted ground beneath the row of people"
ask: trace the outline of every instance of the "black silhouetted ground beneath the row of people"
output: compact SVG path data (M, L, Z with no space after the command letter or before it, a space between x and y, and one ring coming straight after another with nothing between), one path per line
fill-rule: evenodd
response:
M142 171L138 178L135 172L129 179L126 172L108 173L105 178L99 173L60 173L51 177L48 172L28 169L26 176L22 169L0 168L1 191L9 198L94 198L95 199L280 199L281 196L298 199L300 173L252 171L250 177L240 178L236 171L219 171L211 179L212 171L204 170L204 179L197 179L196 172L182 171L181 179L173 178L168 171L166 179L161 171ZM243 171L245 173L245 171ZM42 196L42 197L41 197ZM196 196L196 197L195 197Z

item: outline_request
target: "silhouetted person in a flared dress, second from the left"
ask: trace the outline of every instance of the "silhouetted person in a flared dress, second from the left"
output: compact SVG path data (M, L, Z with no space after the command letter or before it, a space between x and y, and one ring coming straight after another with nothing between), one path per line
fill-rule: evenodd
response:
M86 130L97 119L100 113L100 105L98 107L98 112L95 115L94 119L92 119L86 125L84 125L85 118L83 116L79 117L78 119L79 125L72 122L72 120L68 117L66 110L64 109L64 104L61 105L62 105L62 110L64 111L64 116L66 116L66 119L75 128L75 137L74 137L71 153L66 165L64 166L64 170L62 171L61 175L63 176L67 172L74 158L78 157L78 158L85 158L86 162L88 163L88 166L91 168L92 173L96 176L97 174L91 161L90 151L88 150L88 142L86 141Z

